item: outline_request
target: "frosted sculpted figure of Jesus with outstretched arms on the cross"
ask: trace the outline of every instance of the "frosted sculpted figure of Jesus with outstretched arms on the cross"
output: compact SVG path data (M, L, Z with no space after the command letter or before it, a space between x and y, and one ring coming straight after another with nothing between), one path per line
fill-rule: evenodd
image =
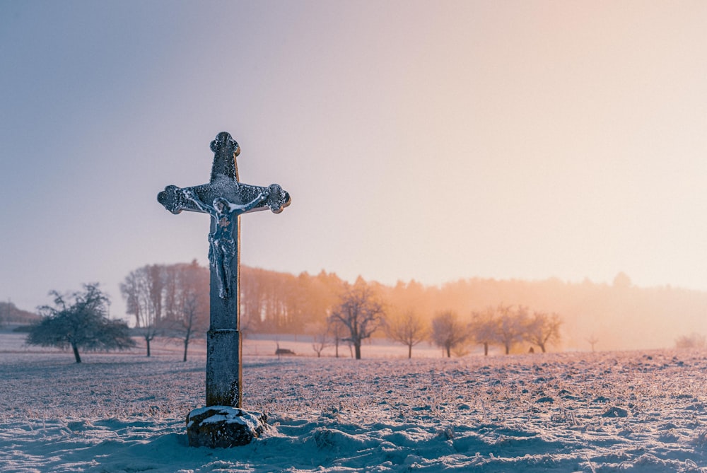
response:
M216 197L213 205L204 204L192 189L182 189L182 194L194 202L201 211L210 214L216 222L214 231L209 233L209 263L211 263L211 267L216 269L218 280L221 283L218 296L221 296L222 299L229 298L231 293L230 262L238 252L233 239L233 228L237 225L236 222L240 214L255 208L257 204L267 199L270 194L269 189L264 189L251 202L242 205L232 204L223 197Z

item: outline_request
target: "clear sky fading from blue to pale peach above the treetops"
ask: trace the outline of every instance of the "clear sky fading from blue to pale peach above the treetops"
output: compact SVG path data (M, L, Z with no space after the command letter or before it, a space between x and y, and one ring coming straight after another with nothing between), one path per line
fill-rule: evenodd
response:
M707 2L0 0L0 300L206 264L233 134L242 262L353 281L707 290Z

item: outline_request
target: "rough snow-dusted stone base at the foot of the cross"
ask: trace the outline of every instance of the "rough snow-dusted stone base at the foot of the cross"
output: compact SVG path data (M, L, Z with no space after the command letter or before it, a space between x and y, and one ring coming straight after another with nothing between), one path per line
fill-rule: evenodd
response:
M267 428L267 416L238 407L210 406L187 416L189 446L230 448L247 445Z

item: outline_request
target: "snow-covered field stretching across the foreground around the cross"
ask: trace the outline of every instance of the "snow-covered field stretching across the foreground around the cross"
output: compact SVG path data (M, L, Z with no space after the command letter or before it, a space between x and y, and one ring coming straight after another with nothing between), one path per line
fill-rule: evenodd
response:
M76 365L0 334L0 471L707 472L705 353L247 355L245 407L269 431L210 450L184 426L203 352L179 351Z

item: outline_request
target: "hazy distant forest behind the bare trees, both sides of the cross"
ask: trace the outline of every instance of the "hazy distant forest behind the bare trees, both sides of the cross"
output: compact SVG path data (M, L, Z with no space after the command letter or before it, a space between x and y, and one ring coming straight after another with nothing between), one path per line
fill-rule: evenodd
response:
M168 325L182 311L185 295L194 294L197 286L198 296L190 300L201 313L199 327L204 329L208 281L208 269L196 262L155 264L132 271L121 290L132 323L140 327L160 325L160 321ZM707 292L670 286L638 288L623 273L613 284L473 278L441 286L416 281L399 281L395 286L368 281L368 285L384 303L387 315L411 311L427 322L445 310L471 322L472 313L501 304L556 313L562 320L562 341L552 347L554 351L670 348L679 337L703 334L707 328ZM337 274L326 271L294 275L243 266L241 328L246 334L318 334L344 286ZM385 332L380 330L376 336L385 337Z

